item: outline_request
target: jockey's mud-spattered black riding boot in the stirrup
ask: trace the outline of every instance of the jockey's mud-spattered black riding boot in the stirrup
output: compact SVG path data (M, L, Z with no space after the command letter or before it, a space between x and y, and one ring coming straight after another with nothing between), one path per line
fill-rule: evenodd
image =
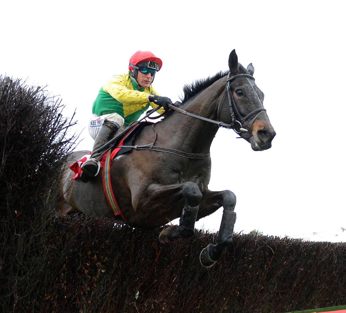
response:
M99 157L104 151L97 151L105 143L110 141L115 133L118 131L119 126L109 120L103 123L98 135L96 136L94 146L92 148L90 159L84 162L81 166L81 177L82 182L88 182L91 178L95 177L100 170Z

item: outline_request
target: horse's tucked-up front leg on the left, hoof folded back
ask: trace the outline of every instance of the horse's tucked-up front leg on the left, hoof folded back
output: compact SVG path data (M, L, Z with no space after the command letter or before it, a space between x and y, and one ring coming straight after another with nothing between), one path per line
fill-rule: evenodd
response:
M165 228L159 236L162 243L172 243L183 238L190 238L194 234L194 224L197 218L199 203L202 199L202 193L194 182L188 181L182 184L159 185L151 184L146 192L147 197L144 206L151 207L151 204L164 202L167 207L176 207L177 203L183 202L180 207L181 217L179 225L172 225ZM160 201L161 200L161 201Z

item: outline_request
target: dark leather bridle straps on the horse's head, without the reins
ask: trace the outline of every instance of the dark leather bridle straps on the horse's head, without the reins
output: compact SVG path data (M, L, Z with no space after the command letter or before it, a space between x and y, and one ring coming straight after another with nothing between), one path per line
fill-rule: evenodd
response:
M247 114L246 116L242 117L242 115L240 115L238 109L237 109L237 106L235 104L235 101L234 101L234 98L232 96L232 92L231 92L231 86L230 86L230 81L233 80L233 79L236 79L238 77L248 77L248 78L251 78L253 80L255 80L255 78L252 76L252 75L249 75L249 74L236 74L236 75L233 75L233 76L229 76L230 73L228 73L227 75L227 85L226 85L226 93L227 93L227 97L228 97L228 105L229 105L229 111L230 111L230 114L231 114L231 118L232 118L232 123L230 124L230 127L229 128L232 128L237 134L241 134L241 133L248 133L248 129L246 128L243 128L243 124L244 122L251 116L255 115L253 117L253 119L247 124L247 125L252 125L252 123L254 122L254 120L256 119L256 117L258 116L258 114L261 113L261 111L266 111L266 109L262 106L262 102L260 101L260 99L258 99L258 95L257 95L257 99L258 101L260 101L261 103L261 108L258 108L258 109L255 109L253 110L251 113ZM225 95L224 95L225 96ZM222 97L222 100L224 99L224 97ZM220 110L220 107L221 107L221 104L223 101L220 101L219 103L219 106L218 106L218 109L217 109L217 118L219 120L219 110ZM237 120L236 117L235 117L235 114L238 116L238 118L240 119ZM236 125L239 126L239 131L236 129ZM222 126L221 127L225 127L225 126ZM250 137L251 134L247 134L249 136L246 136L246 137Z

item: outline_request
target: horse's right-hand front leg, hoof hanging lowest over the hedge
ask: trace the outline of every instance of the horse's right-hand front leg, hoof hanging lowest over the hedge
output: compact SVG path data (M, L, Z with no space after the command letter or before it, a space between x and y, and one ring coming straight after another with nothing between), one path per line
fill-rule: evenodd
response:
M197 220L215 212L221 206L224 207L220 230L217 236L217 244L209 244L200 254L200 262L205 267L213 266L221 257L222 252L233 242L234 223L236 213L236 196L230 190L210 191L203 193Z

